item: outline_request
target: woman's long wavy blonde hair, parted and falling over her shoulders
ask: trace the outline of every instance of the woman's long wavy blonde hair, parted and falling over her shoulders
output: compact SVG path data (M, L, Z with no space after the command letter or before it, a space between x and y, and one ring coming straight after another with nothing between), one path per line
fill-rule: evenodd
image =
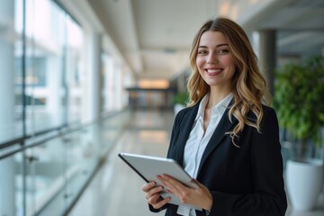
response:
M263 118L262 103L270 103L270 94L266 88L266 80L257 66L257 56L247 38L246 32L228 18L220 17L209 20L202 25L193 39L193 46L190 52L190 65L192 74L189 76L187 89L189 92L188 106L198 103L205 94L210 91L208 85L200 76L196 66L196 57L199 41L205 31L220 31L229 42L229 50L236 66L236 71L232 77L232 94L234 103L229 109L229 121L232 116L238 119L238 124L234 130L229 131L232 142L235 146L235 138L244 125L249 125L260 131L260 122ZM247 118L247 112L252 111L257 119Z

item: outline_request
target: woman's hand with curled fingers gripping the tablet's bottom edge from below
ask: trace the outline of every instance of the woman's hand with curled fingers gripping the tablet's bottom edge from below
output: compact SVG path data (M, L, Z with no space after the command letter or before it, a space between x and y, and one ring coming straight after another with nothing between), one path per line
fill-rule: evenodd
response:
M162 208L162 206L171 200L170 197L164 199L160 195L163 191L163 186L157 185L155 182L149 182L143 185L142 191L145 193L145 198L148 200L148 203L152 205L154 209Z

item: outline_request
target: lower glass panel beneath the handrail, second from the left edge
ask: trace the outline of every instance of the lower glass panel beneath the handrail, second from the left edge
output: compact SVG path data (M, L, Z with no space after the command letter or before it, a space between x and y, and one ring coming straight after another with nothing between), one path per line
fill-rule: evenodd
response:
M50 215L48 210L60 215L64 211L67 173L65 152L62 139L52 139L27 149L27 215Z

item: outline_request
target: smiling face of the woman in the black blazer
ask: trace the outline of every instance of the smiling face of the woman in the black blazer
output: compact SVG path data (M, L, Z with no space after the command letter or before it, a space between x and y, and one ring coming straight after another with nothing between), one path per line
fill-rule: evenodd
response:
M208 85L230 89L236 67L229 51L229 43L220 31L202 33L196 65Z

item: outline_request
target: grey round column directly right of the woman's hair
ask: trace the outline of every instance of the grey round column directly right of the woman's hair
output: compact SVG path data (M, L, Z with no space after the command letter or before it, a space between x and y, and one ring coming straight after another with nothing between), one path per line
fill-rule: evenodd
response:
M276 43L275 30L259 30L254 32L252 44L257 52L261 72L266 77L271 94L274 94Z

